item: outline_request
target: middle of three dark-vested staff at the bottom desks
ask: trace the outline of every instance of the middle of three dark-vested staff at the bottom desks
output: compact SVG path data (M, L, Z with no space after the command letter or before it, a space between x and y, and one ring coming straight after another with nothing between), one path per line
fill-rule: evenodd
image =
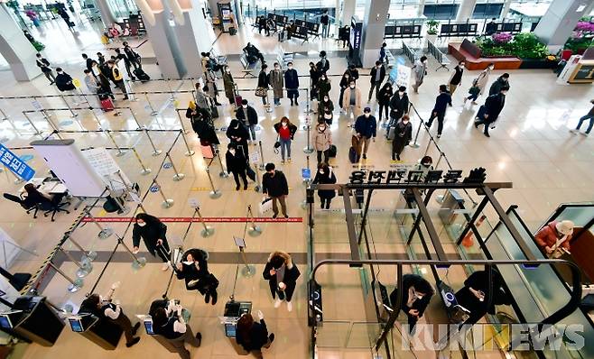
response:
M169 301L167 309L157 308L153 316L154 334L163 336L180 354L181 359L190 359L190 351L184 345L186 342L192 346L199 347L202 335L194 336L191 327L181 317L181 305Z

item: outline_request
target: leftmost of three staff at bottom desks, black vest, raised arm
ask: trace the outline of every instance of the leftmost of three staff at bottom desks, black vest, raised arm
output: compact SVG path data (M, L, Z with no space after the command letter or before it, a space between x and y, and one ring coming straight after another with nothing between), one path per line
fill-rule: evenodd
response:
M88 308L97 318L110 320L117 327L120 327L124 331L125 346L130 347L140 341L140 338L135 336L140 323L136 322L135 326L132 327L130 318L124 314L124 310L122 310L119 303L116 302L114 304L112 302L112 296L117 287L119 287L119 282L112 284L109 294L105 297L101 297L98 294L91 294L82 302L80 308Z

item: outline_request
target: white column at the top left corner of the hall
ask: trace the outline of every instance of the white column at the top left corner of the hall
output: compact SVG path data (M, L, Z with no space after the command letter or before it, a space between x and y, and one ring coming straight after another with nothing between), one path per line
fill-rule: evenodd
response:
M35 66L35 48L24 37L21 27L14 22L4 3L0 5L0 53L13 71L17 81L30 81L41 75Z

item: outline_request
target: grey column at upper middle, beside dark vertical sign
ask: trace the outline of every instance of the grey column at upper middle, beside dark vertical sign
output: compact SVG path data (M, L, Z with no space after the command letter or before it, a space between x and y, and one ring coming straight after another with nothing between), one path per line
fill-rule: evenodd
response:
M361 62L364 68L371 68L379 59L379 50L384 42L390 0L367 0L361 32Z

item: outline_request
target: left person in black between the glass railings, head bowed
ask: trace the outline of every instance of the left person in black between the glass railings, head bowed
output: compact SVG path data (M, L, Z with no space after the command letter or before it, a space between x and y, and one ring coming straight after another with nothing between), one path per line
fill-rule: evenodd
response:
M390 303L392 303L394 310L402 309L406 313L408 329L411 334L414 334L414 327L419 318L422 318L422 314L429 305L433 294L435 294L435 290L433 290L429 281L417 274L404 274L403 282L396 283L396 285L402 285L403 289L400 308L394 308L398 297L397 288L390 293Z

